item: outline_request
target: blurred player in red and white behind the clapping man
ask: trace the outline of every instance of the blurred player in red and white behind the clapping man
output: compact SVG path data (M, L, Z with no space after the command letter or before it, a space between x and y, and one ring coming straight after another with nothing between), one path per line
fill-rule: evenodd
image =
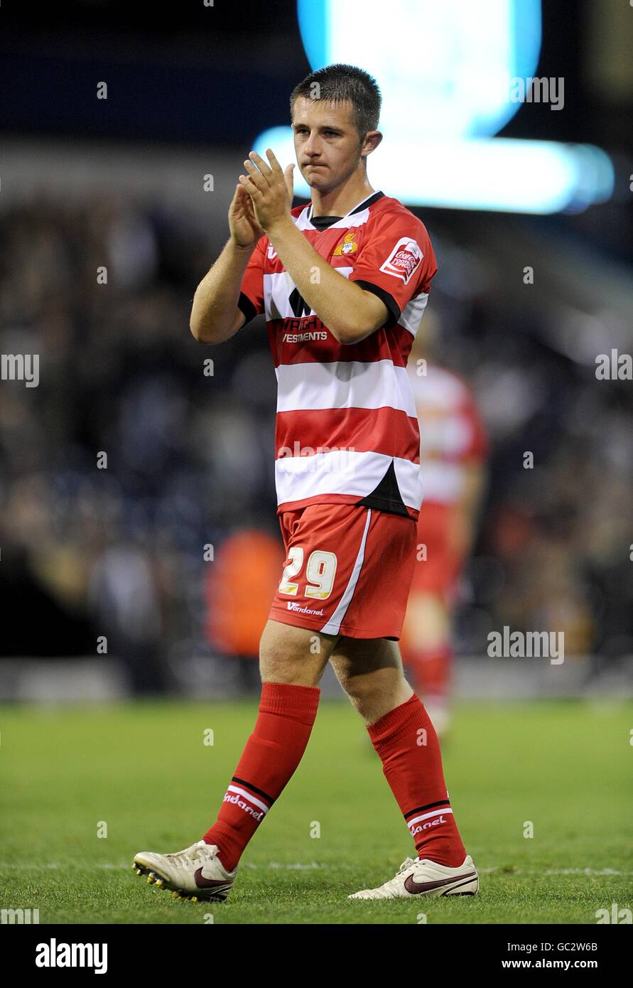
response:
M488 442L467 383L433 362L435 334L435 316L428 313L407 365L420 423L423 503L400 650L438 737L444 737L452 614L484 492Z

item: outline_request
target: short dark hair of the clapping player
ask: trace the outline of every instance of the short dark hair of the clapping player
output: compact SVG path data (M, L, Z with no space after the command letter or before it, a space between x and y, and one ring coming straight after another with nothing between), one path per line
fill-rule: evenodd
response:
M362 139L367 130L377 130L380 120L382 97L373 76L356 65L336 62L306 75L290 94L290 118L298 97L315 99L314 84L318 83L319 99L330 103L350 100L353 105L352 122Z

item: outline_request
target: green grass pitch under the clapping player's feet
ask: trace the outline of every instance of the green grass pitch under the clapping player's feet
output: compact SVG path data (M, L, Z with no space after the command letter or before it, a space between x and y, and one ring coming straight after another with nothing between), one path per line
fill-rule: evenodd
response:
M413 842L356 713L322 701L227 901L172 899L132 857L199 839L256 716L257 700L1 706L0 906L40 924L594 924L632 908L630 701L457 705L444 775L479 895L388 902L347 895Z

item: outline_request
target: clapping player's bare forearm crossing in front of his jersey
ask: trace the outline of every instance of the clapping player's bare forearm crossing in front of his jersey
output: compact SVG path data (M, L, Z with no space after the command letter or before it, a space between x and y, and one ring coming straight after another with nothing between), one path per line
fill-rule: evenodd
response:
M374 329L365 293L318 254L291 219L268 231L277 256L301 297L339 343L356 343ZM366 329L366 332L364 330Z

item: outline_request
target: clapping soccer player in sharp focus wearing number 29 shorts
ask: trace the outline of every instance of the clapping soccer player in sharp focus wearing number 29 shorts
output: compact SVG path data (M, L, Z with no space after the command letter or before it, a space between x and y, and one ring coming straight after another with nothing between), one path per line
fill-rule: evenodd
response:
M287 552L260 644L259 716L217 820L175 854L143 852L150 882L225 899L248 842L297 768L328 662L362 718L417 857L352 898L474 895L479 879L450 806L435 729L397 646L422 501L420 430L407 379L435 255L423 223L375 191L380 92L351 65L308 75L290 113L312 191L251 152L230 237L200 282L191 329L221 343L266 314L277 373L277 514ZM244 601L248 608L248 601ZM336 771L333 769L333 771Z

